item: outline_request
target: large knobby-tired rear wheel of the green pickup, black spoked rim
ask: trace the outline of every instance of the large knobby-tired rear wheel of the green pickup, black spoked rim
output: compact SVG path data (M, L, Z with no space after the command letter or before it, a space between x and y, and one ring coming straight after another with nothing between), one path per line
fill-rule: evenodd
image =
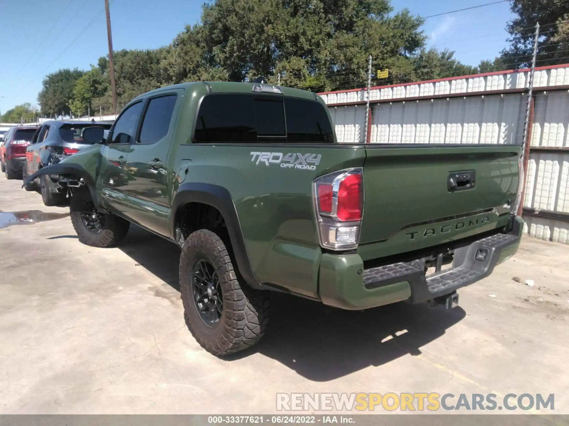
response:
M180 256L180 290L189 331L205 350L221 357L249 348L265 333L269 294L237 278L221 238L193 232Z

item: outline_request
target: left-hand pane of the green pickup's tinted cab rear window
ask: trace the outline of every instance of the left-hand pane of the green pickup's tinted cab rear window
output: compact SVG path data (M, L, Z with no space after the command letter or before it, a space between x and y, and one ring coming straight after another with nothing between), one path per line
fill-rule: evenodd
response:
M257 142L253 98L247 95L206 96L197 115L196 142Z

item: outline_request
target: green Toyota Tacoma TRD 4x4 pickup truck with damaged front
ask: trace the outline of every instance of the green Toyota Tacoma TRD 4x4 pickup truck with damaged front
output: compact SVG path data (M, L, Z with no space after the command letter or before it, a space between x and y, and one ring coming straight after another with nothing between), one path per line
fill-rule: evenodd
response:
M185 321L217 356L261 339L270 291L453 307L522 234L520 146L339 144L308 91L163 87L82 137L24 183L50 176L85 244L116 245L130 223L179 244Z

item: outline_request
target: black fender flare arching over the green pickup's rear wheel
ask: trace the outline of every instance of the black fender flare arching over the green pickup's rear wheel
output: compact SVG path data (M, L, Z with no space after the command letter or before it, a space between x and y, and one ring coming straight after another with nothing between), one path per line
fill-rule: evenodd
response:
M237 268L245 282L257 290L273 290L269 286L262 285L249 262L249 256L245 247L245 240L241 231L241 224L237 216L237 209L233 198L227 189L212 183L187 182L178 187L172 202L172 215L170 231L175 239L176 215L178 208L186 203L203 203L217 208L225 220L232 245L233 256L237 262Z

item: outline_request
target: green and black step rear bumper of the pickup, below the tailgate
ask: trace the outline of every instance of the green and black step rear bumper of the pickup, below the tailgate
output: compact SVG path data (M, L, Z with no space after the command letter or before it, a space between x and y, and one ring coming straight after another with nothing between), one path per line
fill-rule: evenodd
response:
M509 228L509 233L498 233L456 249L453 268L428 277L420 262L364 269L358 254L324 253L319 274L320 299L330 306L361 310L403 300L426 302L451 294L487 277L496 265L517 252L522 219L513 218ZM476 260L477 253L485 254L484 260Z

